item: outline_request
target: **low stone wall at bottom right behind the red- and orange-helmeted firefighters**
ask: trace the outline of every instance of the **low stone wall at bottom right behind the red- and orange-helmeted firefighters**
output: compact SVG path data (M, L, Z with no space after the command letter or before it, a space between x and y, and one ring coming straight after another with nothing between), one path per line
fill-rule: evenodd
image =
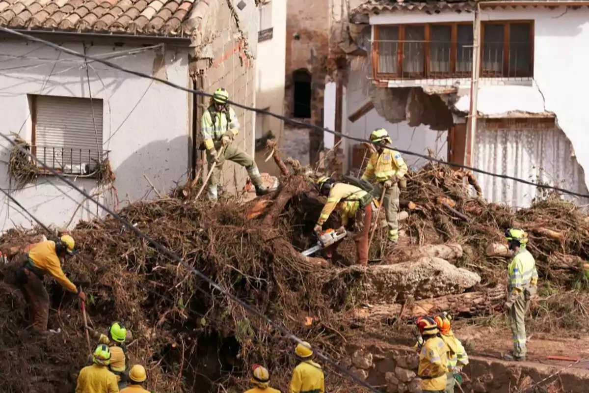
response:
M416 375L419 356L412 348L380 344L349 345L348 353L350 357L344 366L373 387L387 393L421 393L421 379ZM469 356L469 360L470 364L462 373L464 382L461 388L465 393L587 391L589 372L586 369L505 362L479 356Z

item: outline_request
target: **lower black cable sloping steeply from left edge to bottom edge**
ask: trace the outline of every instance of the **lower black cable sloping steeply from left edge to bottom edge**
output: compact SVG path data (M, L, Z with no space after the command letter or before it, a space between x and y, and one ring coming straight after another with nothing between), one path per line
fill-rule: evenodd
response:
M284 336L286 336L286 338L289 338L290 340L296 342L297 344L302 344L303 343L303 340L302 339L300 339L299 337L297 337L296 335L294 335L294 333L290 332L288 329L284 328L280 323L274 322L272 319L268 318L266 315L264 315L262 312L258 311L256 308L250 306L249 304L247 304L246 302L244 302L243 300L241 300L240 298L238 298L236 295L233 295L233 293L229 292L228 290L226 290L225 288L223 288L222 286L220 286L217 282L215 282L209 276L205 275L200 270L198 270L198 269L196 269L196 268L188 265L188 263L184 262L184 260L182 260L181 257L179 257L175 253L173 253L170 250L168 250L166 246L161 245L161 243L158 243L156 240L154 240L151 237L149 237L143 231L141 231L140 229L137 229L137 227L135 227L133 224L131 224L126 219L124 219L123 217L121 217L119 214L115 213L114 211L112 211L110 208L108 208L104 204L102 204L102 203L98 202L97 200L95 200L86 191L84 191L84 190L80 189L80 187L76 186L70 179L68 179L65 176L62 176L61 173L58 173L58 171L56 171L54 168L49 167L47 164L45 164L44 161L39 160L39 158L37 158L30 151L27 151L22 146L19 146L19 144L15 143L15 141L13 141L6 134L0 133L0 136L2 138L4 138L6 141L8 141L8 143L10 143L12 146L18 148L18 150L21 151L21 153L26 154L28 157L31 157L32 160L35 160L38 164L41 164L41 166L44 167L44 169L47 170L49 173L51 173L52 175L58 177L65 184L68 184L68 186L72 187L72 189L78 191L78 193L82 194L82 196L84 196L85 198L87 198L88 200L90 200L91 202L93 202L94 204L96 204L96 206L100 207L102 210L104 210L105 212L107 212L108 214L110 214L112 217L114 217L115 219L117 219L118 222L122 223L125 227L127 227L128 230L131 230L131 231L135 232L135 234L137 236L141 237L141 239L145 240L151 246L155 247L155 249L157 249L160 253L168 256L171 260L174 260L174 262L177 262L179 265L181 265L184 268L186 268L189 272L193 273L198 278L204 280L205 282L207 282L214 289L219 290L219 292L223 293L223 295L227 296L227 298L229 298L233 302L239 304L241 307L243 307L250 314L252 314L252 315L256 316L257 318L262 319L262 321L268 323L274 329L276 329L277 331L279 331L280 333L282 333ZM14 198L12 198L11 200L14 200ZM14 200L14 202L16 202L16 200ZM19 207L22 208L22 205L21 204L18 204L17 206L19 206ZM41 223L39 222L39 224L41 224ZM45 226L43 226L43 227L45 227ZM340 366L339 364L337 364L335 361L333 361L332 359L330 359L327 355L323 354L323 352L321 352L321 351L319 351L317 349L313 349L313 352L315 353L315 355L317 357L319 357L323 361L325 361L328 364L330 364L331 366L333 366L333 368L335 368L337 371L339 371L343 375L348 376L350 379L352 379L352 381L356 382L356 384L369 389L373 393L382 393L378 389L372 387L372 385L368 384L366 381L362 381L362 379L356 377L356 375L353 375L350 371L348 371L348 369L346 369L346 368Z

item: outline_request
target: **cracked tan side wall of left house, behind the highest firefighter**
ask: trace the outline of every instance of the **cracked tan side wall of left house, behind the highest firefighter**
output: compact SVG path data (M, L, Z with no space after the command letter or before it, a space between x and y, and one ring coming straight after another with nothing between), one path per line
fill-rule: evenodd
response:
M202 86L199 86L201 90L213 93L223 87L229 91L231 101L255 107L257 35L252 31L257 31L258 11L253 0L245 2L243 10L233 7L231 2L211 2L207 15L202 19L200 31L203 35L195 49L197 56L192 61L191 74L200 72L203 75ZM203 59L207 61L203 62ZM209 98L204 98L199 112L203 113L208 105ZM253 157L254 113L237 107L234 110L240 128L233 143ZM223 190L231 193L240 191L246 180L247 172L243 167L229 161L224 164L220 179Z

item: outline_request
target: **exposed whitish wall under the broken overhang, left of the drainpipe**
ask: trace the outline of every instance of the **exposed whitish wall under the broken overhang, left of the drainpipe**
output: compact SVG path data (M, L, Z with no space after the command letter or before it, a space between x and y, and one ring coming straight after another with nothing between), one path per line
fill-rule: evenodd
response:
M407 151L413 151L419 154L428 154L428 147L435 151L436 157L446 159L448 157L448 147L446 140L447 131L432 131L428 126L411 127L406 121L401 123L389 123L381 117L376 109L356 120L355 123L348 120L348 116L358 110L362 105L368 103L368 87L371 81L368 79L366 68L359 70L350 70L346 90L346 115L344 117L345 130L350 136L368 138L370 132L375 128L385 128L389 131L389 136L393 141L393 146ZM352 160L352 147L355 141L348 144L349 163ZM409 166L419 168L427 163L423 158L405 154L403 156Z

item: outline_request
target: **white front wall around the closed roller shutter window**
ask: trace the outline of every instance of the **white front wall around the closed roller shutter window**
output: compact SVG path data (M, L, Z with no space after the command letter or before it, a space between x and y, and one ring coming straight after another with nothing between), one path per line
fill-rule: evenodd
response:
M82 44L62 44L83 52ZM133 49L123 47L92 46L90 55ZM164 70L159 77L183 87L188 87L187 52L168 49ZM15 58L22 56L22 58ZM160 65L161 57L148 50L134 55L110 59L125 68L153 74L154 65ZM88 81L84 61L54 49L25 42L0 42L0 108L2 121L0 132L16 133L31 141L31 109L27 94L61 95L88 98ZM174 181L186 179L188 170L188 135L190 133L190 97L183 91L160 82L138 78L105 65L90 63L90 90L93 98L104 100L103 140L104 150L110 150L112 169L117 180L121 206L125 201L154 197L155 194L144 179L145 174L162 193L174 186ZM0 141L0 187L11 189L6 161L10 144ZM96 181L75 179L75 183L92 194ZM92 219L102 214L95 204L84 201L77 191L67 184L47 176L12 195L45 224L67 224L79 204L74 222ZM112 206L112 194L101 196ZM2 196L0 204L0 230L14 226L30 227L29 217Z

